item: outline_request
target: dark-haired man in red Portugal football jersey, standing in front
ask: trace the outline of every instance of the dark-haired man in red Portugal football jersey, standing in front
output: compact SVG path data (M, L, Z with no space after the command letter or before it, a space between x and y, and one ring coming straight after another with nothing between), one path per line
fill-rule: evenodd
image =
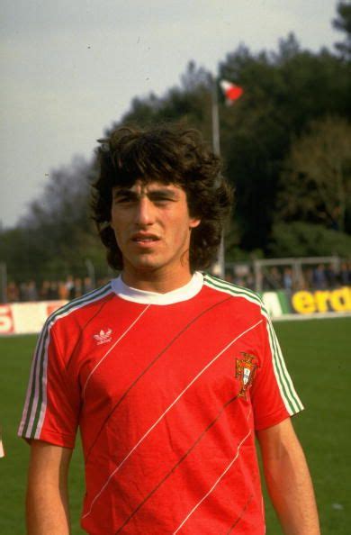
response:
M103 141L94 219L121 277L52 314L20 435L30 535L67 535L79 426L91 535L265 533L255 437L284 533L320 533L290 416L302 409L259 297L198 269L229 212L195 131Z

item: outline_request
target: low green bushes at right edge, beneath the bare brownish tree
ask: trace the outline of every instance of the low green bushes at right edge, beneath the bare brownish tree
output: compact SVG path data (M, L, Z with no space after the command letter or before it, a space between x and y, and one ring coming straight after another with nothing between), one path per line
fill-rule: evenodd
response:
M272 257L318 257L338 255L348 258L351 236L322 225L306 222L275 223L269 252Z

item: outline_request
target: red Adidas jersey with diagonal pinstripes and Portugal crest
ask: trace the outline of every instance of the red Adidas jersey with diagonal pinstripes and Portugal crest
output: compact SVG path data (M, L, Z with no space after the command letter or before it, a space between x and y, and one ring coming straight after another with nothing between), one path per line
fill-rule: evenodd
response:
M302 410L260 298L121 278L53 313L19 434L85 457L91 535L263 535L255 431Z

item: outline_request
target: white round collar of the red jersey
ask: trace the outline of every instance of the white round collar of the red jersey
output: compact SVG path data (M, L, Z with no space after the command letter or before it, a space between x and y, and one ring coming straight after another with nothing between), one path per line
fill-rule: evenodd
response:
M174 304L181 301L187 301L197 295L202 289L203 277L200 271L195 271L191 280L180 288L166 292L166 294L158 294L157 292L146 292L138 288L131 288L121 280L121 276L113 278L112 290L113 292L125 299L126 301L133 301L141 304Z

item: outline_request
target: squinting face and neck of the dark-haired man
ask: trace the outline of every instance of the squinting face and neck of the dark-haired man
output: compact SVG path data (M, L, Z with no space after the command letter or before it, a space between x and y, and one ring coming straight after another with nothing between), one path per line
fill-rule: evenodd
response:
M143 183L112 189L111 226L123 257L123 278L138 287L139 279L189 280L191 230L200 220L189 215L184 190L174 184ZM173 288L171 288L173 289Z

